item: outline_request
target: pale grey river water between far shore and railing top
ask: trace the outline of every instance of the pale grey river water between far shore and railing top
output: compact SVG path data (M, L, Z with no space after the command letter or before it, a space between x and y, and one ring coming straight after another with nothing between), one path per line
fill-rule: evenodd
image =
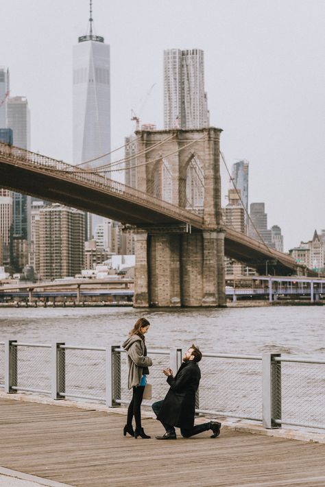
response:
M325 356L325 307L228 309L2 308L0 342L5 339L67 344L119 345L135 320L152 324L147 346L204 352Z

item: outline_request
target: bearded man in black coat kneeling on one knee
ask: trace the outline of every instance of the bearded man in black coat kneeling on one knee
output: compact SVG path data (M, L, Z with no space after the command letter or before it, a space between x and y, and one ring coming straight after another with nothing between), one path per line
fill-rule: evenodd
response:
M184 438L209 429L213 431L211 438L219 436L221 423L217 421L194 426L195 392L201 379L201 371L197 362L201 359L202 353L199 348L192 345L184 353L182 365L175 377L170 368L163 370L163 373L167 375L170 388L163 401L157 401L152 405L157 419L166 430L163 436L156 436L157 440L176 440L175 427L180 428L180 433Z

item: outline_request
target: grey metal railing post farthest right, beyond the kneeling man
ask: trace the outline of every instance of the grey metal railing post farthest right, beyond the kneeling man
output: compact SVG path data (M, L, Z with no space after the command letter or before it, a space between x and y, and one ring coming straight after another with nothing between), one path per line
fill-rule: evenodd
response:
M281 362L275 361L280 353L263 353L263 427L272 429L281 419Z

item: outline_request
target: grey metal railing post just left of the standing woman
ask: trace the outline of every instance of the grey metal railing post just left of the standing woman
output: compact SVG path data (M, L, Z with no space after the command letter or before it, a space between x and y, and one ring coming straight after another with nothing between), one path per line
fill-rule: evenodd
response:
M106 405L120 406L121 401L121 352L117 352L119 345L106 346Z

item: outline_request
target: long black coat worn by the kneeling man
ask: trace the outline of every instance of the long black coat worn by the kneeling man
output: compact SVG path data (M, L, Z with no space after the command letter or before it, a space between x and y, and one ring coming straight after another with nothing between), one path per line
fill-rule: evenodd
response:
M195 416L195 392L200 379L200 368L193 360L183 362L175 377L169 375L170 389L157 419L167 425L191 429Z

